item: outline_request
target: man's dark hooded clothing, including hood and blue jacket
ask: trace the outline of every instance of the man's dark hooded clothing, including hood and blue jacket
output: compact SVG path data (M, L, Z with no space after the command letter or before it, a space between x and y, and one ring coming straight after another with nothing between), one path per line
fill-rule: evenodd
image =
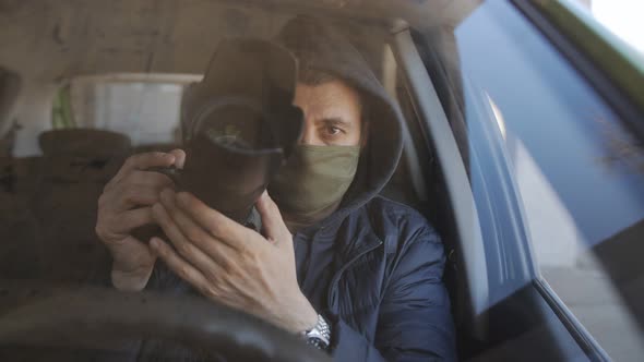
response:
M300 69L331 73L356 88L368 110L368 143L351 186L334 213L294 234L298 281L330 322L330 353L337 361L454 360L442 242L417 212L379 195L402 152L398 107L333 27L297 16L276 41ZM194 293L159 264L147 289ZM193 351L155 341L143 342L139 360L178 355L200 360Z

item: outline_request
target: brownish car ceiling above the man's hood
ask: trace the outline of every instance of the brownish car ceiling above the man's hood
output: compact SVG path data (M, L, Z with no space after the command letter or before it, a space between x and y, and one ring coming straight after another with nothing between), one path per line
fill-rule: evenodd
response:
M327 17L349 27L347 33L377 39L401 23L454 25L478 3L480 0L14 1L0 11L0 65L38 80L115 72L194 74L202 72L223 36L271 36L295 14Z

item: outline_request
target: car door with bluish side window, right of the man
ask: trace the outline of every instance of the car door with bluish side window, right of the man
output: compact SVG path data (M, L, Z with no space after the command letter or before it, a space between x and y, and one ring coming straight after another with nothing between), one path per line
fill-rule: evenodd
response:
M456 310L469 310L468 323L456 316L464 359L644 353L644 77L594 26L557 1L484 2L454 28L407 35L426 85L396 35L438 148L452 213L443 219L455 220L448 246L466 290L453 293ZM463 174L469 208L454 195Z

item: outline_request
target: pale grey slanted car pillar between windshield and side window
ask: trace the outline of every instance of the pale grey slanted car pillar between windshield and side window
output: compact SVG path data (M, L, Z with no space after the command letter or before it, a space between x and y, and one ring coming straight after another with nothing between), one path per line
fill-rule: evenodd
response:
M456 140L440 102L436 88L425 69L409 28L393 34L392 49L404 75L404 84L410 96L413 108L418 114L427 147L434 148L437 161L448 189L455 229L455 251L460 272L464 273L469 328L480 340L488 334L486 309L489 305L487 263L484 240L479 226L472 188ZM440 136L439 136L440 135ZM450 255L452 258L453 255ZM454 302L454 301L453 301Z

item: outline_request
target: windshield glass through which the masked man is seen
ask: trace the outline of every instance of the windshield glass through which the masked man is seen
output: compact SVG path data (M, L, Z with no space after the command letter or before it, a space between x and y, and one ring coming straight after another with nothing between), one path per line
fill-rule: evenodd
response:
M397 167L398 69L384 22L225 1L51 7L51 14L38 4L1 14L12 20L0 36L13 39L0 52L0 305L8 313L0 324L11 326L1 333L0 355L261 360L272 352L240 346L286 338L273 355L281 360L298 353L289 343L309 348L295 337L307 330L323 337L313 334L309 345L330 345L324 325L382 288L373 279L356 290L362 302L346 293L339 306L330 301L329 290L354 278L346 270L368 275L350 267L371 257L363 248L382 249L371 233L350 244L365 230L360 207L380 193L404 204L427 200L405 186L407 170ZM45 36L38 24L52 29ZM318 34L317 26L332 32L311 49L297 28ZM15 35L25 32L32 40L22 43ZM195 214L167 214L163 205L179 207L186 195ZM337 229L345 217L362 226L310 231ZM172 229L179 225L192 231ZM207 242L178 244L186 234L205 240L196 233ZM322 240L309 246L314 238ZM243 243L254 243L254 254ZM341 248L355 248L346 267ZM231 252L237 262L222 256ZM425 253L442 263L440 246ZM263 272L250 262L258 257L266 260ZM264 277L273 281L255 281ZM226 291L237 297L222 297ZM446 341L438 347L450 354L450 305L439 292L441 310L425 310L440 312ZM226 324L228 309L240 319ZM222 342L230 339L237 342Z

